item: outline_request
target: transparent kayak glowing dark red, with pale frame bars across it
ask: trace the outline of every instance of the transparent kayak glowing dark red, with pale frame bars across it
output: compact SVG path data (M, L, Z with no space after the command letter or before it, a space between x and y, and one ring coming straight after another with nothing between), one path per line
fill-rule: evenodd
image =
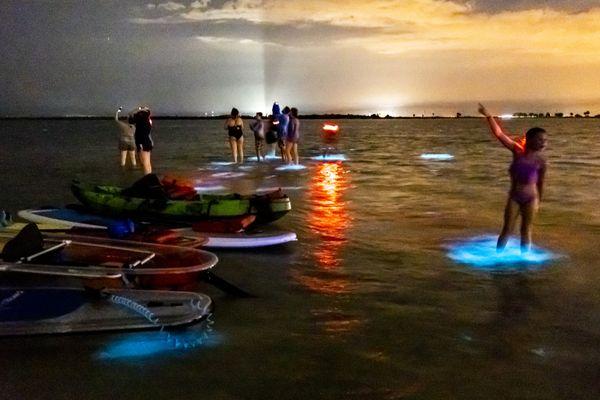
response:
M95 287L178 288L196 282L218 261L204 250L68 232L42 233L35 224L16 234L0 230L0 248L2 272L99 279L86 282Z

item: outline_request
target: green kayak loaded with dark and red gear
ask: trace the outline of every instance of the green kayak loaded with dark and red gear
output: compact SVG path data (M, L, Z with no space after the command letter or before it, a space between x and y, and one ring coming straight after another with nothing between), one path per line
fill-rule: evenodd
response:
M149 185L148 182L152 183ZM125 189L73 181L71 190L84 206L97 213L184 224L248 214L256 216L255 223L264 224L281 218L292 209L290 199L281 190L248 196L194 192L181 199L172 195L173 191L165 190L158 178L148 175Z

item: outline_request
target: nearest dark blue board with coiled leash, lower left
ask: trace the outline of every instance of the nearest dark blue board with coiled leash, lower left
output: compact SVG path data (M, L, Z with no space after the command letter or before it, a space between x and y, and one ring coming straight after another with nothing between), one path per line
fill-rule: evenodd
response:
M0 288L0 336L179 327L212 311L201 293L83 288Z

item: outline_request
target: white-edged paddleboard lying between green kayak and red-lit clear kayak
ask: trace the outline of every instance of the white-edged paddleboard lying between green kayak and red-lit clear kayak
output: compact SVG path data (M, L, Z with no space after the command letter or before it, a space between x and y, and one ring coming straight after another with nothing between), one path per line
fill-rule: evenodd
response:
M18 215L27 221L64 227L106 229L108 226L123 222L118 219L89 214L70 208L21 210ZM181 233L183 236L201 235L208 239L203 244L203 247L211 248L266 247L293 242L298 239L294 232L267 229L250 233L196 232L191 228L175 228L172 230Z

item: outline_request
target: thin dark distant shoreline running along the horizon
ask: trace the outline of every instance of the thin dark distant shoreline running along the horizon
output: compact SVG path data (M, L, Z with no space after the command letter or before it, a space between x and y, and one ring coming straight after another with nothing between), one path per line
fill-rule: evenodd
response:
M533 113L532 113L533 114ZM590 119L600 118L600 114L597 115L513 115L513 119L527 119L527 118L573 118L573 119ZM213 115L213 116L190 116L190 115L153 115L152 119L155 120L224 120L229 118L229 115ZM242 115L244 119L253 119L253 115ZM399 116L393 117L391 115L380 116L377 114L371 115L360 115L360 114L305 114L300 115L300 119L472 119L472 118L483 118L481 116L473 115L457 115L457 116L438 116L438 115L423 115L423 116ZM41 117L0 117L0 120L113 120L114 116L104 115L91 115L91 116L41 116Z

